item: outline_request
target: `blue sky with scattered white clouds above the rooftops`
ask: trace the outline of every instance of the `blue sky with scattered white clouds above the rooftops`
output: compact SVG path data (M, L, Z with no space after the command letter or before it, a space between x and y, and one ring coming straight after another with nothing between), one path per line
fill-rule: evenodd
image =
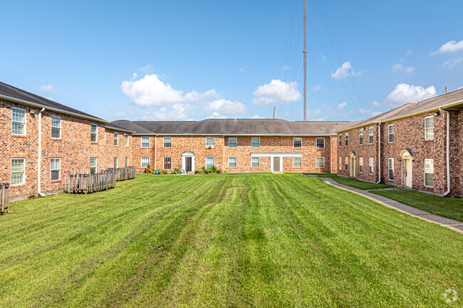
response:
M107 120L303 119L303 1L8 1L0 81ZM463 1L308 0L308 120L463 86Z

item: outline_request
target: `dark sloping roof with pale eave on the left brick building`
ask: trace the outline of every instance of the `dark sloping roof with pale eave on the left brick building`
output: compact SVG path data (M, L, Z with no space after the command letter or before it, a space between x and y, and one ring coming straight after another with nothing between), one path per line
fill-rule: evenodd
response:
M18 87L12 85L7 85L6 83L0 82L0 98L4 100L11 100L14 102L19 102L24 105L29 105L33 107L45 107L46 110L51 110L55 112L60 112L65 115L73 115L75 117L81 117L88 120L95 120L98 122L108 123L108 121L89 115L88 113L81 112L74 108L62 105L53 100L48 100L45 97L35 95L31 92L21 90Z

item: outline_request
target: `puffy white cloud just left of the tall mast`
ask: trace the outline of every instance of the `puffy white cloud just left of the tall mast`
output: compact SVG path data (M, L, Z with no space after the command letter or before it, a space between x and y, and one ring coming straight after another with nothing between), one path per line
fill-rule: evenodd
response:
M301 100L302 95L296 90L296 87L295 81L271 80L270 83L257 87L252 103L254 105L266 105L274 102L297 102Z

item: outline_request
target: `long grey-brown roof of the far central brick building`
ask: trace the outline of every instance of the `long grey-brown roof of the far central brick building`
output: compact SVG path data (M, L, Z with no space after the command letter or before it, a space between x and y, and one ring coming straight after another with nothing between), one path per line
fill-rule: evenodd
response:
M227 135L305 135L327 136L350 122L286 121L279 119L208 119L202 121L111 122L135 134L227 134Z

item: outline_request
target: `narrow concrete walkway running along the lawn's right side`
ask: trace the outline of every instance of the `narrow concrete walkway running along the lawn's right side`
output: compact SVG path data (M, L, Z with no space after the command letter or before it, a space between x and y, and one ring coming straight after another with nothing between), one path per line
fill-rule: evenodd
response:
M310 175L308 175L310 176ZM318 177L318 176L313 176L313 177ZM386 198L383 196L378 196L375 193L370 193L368 191L363 191L358 188L353 188L347 185L339 184L337 181L330 179L330 178L321 178L319 177L318 179L321 179L324 181L326 184L330 184L333 186L336 186L340 189L343 189L345 191L350 191L353 193L357 193L360 196L363 196L365 198L369 198L370 200L373 200L377 203L382 204L383 206L387 206L388 208L395 208L397 211L401 211L403 213L407 213L411 216L415 216L417 218L422 218L425 221L429 221L431 223L438 223L439 225L443 225L444 227L450 228L452 230L456 230L459 233L463 233L463 223L460 221L454 221L453 219L450 218L445 218L442 216L437 216L432 213L428 213L426 211L419 210L418 208L414 208L412 206L407 206L404 203L400 203L398 201L392 200L390 198ZM388 188L385 188L388 189ZM378 189L379 190L379 189Z

